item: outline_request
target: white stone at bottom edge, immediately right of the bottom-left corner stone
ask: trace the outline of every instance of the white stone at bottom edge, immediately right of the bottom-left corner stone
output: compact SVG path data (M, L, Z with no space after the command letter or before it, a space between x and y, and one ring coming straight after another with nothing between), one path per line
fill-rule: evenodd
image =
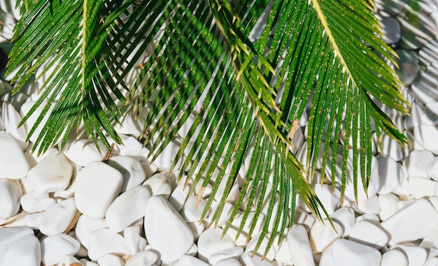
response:
M69 235L59 234L41 241L41 259L45 265L54 265L64 255L74 255L80 247L79 242Z

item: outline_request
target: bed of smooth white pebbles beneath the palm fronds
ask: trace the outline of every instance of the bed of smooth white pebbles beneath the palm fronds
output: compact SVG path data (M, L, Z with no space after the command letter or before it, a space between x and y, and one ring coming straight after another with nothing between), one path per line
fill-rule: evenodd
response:
M0 1L0 18L7 39L18 14L5 3ZM386 113L412 145L402 149L383 136L382 153L374 150L369 199L360 191L358 205L352 186L341 205L329 179L323 186L320 177L313 181L337 232L298 201L292 229L264 260L267 239L252 256L261 223L249 242L248 225L235 239L237 216L221 239L241 180L232 187L218 227L208 228L210 216L199 222L205 201L195 209L199 188L188 196L184 180L177 182L168 171L178 144L171 142L150 164L147 147L136 138L141 125L130 117L117 128L125 145L115 145L106 163L108 151L100 154L84 138L69 140L62 152L55 146L43 156L32 154L35 139L24 140L36 116L24 127L17 124L38 98L43 77L15 96L0 82L0 266L438 265L438 7L433 0L421 1L419 11L397 0L379 0L376 7L386 42L400 54L397 73L414 106L410 117ZM305 117L299 126L294 142L304 161Z

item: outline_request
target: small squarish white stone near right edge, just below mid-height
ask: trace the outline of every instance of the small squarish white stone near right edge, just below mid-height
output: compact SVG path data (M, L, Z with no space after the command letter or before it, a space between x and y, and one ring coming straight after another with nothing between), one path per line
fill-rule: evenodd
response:
M428 177L427 166L432 163L434 155L429 151L412 151L406 160L404 165L408 170L409 177Z

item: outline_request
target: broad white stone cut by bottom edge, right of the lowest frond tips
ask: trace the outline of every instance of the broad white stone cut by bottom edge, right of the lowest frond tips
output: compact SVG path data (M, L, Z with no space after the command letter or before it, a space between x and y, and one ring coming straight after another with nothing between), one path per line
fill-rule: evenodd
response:
M381 253L370 246L365 246L347 239L337 239L330 249L323 252L320 266L380 266Z

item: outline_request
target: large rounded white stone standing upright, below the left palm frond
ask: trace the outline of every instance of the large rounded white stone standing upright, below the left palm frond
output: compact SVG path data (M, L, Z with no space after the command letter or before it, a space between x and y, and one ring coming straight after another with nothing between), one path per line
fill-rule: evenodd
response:
M122 174L106 163L87 165L76 176L75 200L79 212L92 219L104 218L118 196L122 182Z

